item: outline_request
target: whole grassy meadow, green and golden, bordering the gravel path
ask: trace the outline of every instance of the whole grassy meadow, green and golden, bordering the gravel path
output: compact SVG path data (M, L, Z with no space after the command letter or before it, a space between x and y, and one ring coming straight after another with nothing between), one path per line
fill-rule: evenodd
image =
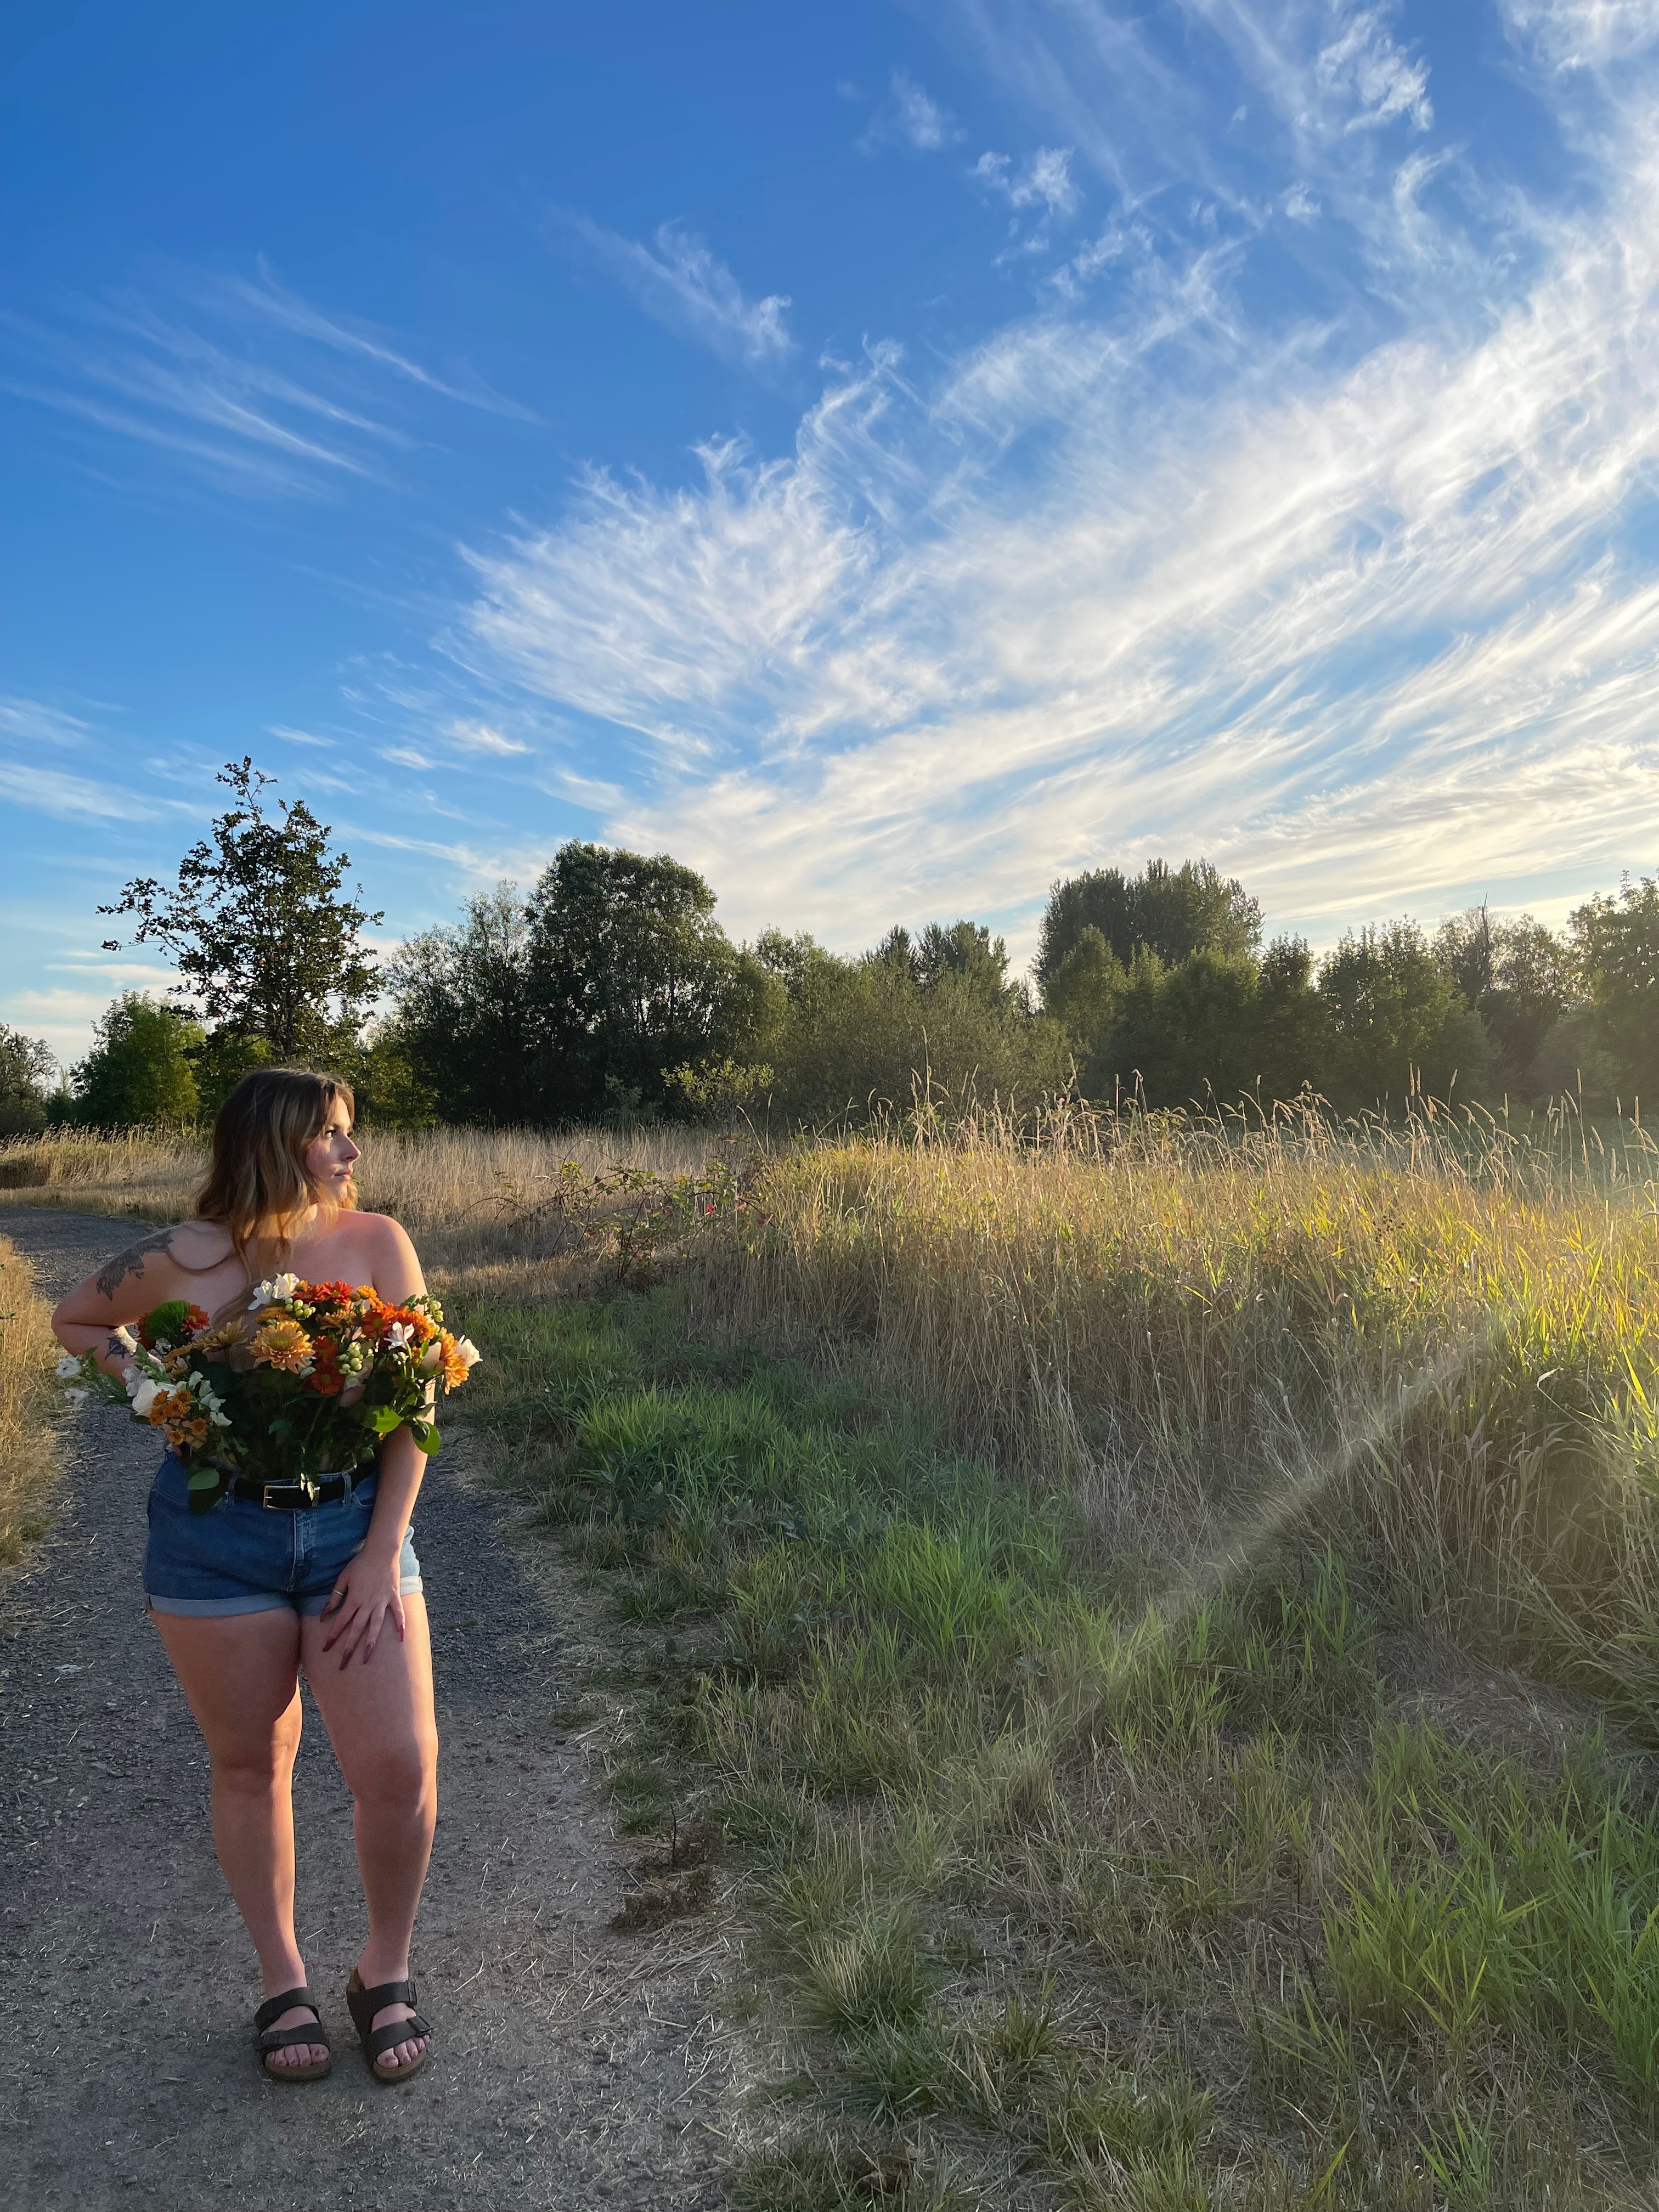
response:
M361 1186L657 1652L593 1697L639 1924L745 1931L739 2205L1652 2201L1639 1128L369 1130Z

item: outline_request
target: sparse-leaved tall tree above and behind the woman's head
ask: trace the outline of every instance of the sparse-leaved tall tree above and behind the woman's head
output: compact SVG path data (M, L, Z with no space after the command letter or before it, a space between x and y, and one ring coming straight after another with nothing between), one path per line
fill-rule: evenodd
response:
M327 1060L349 1046L376 991L363 929L383 916L341 896L352 863L305 801L265 812L274 779L248 757L217 781L234 805L186 852L177 883L139 876L97 911L139 918L133 942L170 953L175 995L215 1037L239 1040L232 1060L259 1046L274 1060ZM119 938L104 951L119 951Z

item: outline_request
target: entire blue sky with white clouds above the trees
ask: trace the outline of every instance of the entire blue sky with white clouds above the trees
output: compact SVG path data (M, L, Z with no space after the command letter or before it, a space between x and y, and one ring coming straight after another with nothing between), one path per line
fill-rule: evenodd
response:
M0 1020L252 752L838 949L1659 865L1659 0L15 0Z

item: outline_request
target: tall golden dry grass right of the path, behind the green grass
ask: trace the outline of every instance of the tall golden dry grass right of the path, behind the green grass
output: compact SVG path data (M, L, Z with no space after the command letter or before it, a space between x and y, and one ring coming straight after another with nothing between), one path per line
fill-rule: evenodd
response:
M1608 1159L1467 1124L827 1144L759 1166L710 1298L860 1340L1117 1542L1358 1524L1422 1617L1659 1714L1659 1183L1639 1133Z

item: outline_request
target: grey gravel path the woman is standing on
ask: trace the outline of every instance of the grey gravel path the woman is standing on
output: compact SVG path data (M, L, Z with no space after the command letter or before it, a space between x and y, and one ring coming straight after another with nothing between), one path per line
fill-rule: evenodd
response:
M7 1208L0 1234L58 1296L133 1223ZM628 1854L546 1719L580 1697L582 1599L469 1486L465 1444L416 1513L442 1754L414 1971L436 2057L407 2088L365 2077L341 2000L363 1933L349 1801L307 1697L299 1929L336 2057L310 2088L261 2079L206 1754L144 1617L155 1455L82 1409L51 1535L0 1586L0 2203L714 2212L728 1953L712 1920L611 1933Z

